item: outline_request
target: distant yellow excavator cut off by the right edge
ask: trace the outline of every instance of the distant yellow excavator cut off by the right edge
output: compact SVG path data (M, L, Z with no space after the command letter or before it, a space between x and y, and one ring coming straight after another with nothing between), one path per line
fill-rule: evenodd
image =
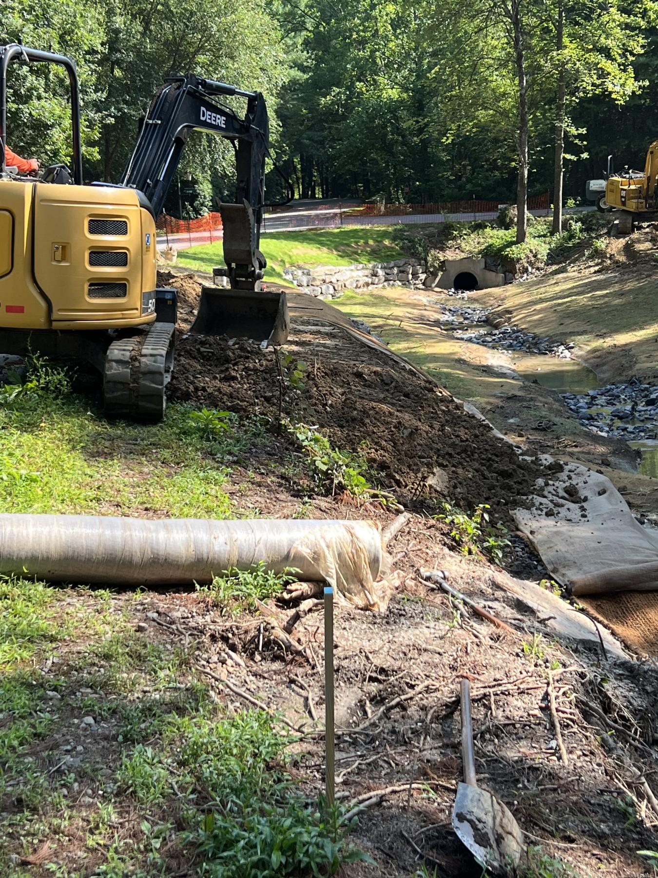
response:
M658 219L658 140L647 150L644 171L624 169L608 177L601 209L619 211L620 234L631 234L635 219Z

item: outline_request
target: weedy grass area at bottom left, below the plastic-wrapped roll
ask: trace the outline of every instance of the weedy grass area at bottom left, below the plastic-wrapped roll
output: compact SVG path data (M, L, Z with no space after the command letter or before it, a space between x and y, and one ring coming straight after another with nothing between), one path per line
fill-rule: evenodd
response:
M218 706L193 650L135 632L117 598L0 579L0 874L32 874L18 855L45 838L44 868L61 878L154 878L181 862L198 876L278 878L356 859L340 812L290 779L288 731ZM81 738L81 716L103 734ZM83 746L62 768L72 738Z

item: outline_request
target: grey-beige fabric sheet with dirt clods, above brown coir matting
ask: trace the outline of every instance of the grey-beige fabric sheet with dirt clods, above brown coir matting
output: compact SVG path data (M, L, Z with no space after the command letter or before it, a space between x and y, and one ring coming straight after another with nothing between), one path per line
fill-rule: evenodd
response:
M546 493L513 515L554 579L573 594L658 589L658 531L635 521L610 479L564 464Z

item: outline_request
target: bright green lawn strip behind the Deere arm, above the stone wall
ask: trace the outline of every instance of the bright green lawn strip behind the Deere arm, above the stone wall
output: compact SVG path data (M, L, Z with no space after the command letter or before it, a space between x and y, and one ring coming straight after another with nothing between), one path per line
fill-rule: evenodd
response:
M261 250L268 260L265 278L283 283L283 269L291 265L351 265L398 259L404 254L391 241L391 228L344 226L317 231L263 234ZM183 268L208 272L215 265L224 265L221 241L181 250L177 264Z

